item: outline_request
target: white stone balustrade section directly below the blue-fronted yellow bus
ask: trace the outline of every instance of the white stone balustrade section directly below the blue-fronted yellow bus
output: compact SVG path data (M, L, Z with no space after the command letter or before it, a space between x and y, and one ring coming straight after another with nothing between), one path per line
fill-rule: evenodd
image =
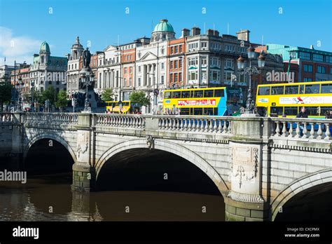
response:
M233 117L234 118L234 117ZM232 117L162 116L158 121L160 130L191 131L195 133L231 133Z

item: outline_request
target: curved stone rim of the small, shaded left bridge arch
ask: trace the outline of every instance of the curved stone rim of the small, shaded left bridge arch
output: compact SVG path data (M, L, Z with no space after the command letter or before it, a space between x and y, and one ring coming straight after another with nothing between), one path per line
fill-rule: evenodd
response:
M29 149L32 147L32 145L37 141L43 139L55 140L62 144L62 146L64 146L69 151L69 154L71 155L71 158L73 158L74 162L76 162L76 154L74 153L74 150L70 147L68 142L66 142L62 137L60 137L60 135L56 135L54 133L41 133L29 139L29 142L25 145L25 149L23 150L23 161L25 161L25 158L27 158L27 153L29 152Z

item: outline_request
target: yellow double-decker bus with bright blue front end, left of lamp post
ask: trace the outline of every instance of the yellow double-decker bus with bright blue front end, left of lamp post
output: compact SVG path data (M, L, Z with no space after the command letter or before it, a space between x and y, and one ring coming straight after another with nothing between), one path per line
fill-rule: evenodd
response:
M165 90L163 114L223 116L226 101L225 87Z

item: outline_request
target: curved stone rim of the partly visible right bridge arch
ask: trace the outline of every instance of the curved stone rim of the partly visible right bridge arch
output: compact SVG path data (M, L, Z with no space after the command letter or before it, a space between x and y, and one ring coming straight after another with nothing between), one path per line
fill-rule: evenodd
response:
M289 184L272 202L272 221L277 217L279 209L293 198L293 196L312 187L316 187L319 184L330 182L332 182L332 170L326 169L305 175Z

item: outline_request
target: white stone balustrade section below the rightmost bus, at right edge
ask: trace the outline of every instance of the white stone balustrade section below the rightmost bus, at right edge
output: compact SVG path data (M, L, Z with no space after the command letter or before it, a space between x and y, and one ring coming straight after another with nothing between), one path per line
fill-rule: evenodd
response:
M331 140L332 120L311 118L271 118L275 128L272 136Z

